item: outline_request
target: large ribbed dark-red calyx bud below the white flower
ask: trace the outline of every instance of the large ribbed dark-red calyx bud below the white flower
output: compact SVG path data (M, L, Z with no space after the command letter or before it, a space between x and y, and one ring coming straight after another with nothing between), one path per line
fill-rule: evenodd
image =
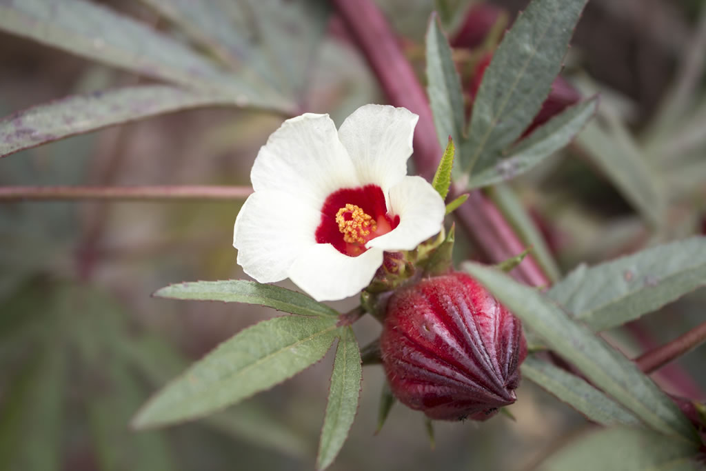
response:
M439 420L485 420L514 403L527 357L520 320L465 273L395 292L380 346L395 397Z

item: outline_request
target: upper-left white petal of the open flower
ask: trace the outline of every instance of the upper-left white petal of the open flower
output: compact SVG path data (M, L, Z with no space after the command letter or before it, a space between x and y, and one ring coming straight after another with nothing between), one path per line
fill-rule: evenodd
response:
M260 149L250 179L256 192L283 191L316 210L333 191L359 186L328 114L306 113L287 119Z

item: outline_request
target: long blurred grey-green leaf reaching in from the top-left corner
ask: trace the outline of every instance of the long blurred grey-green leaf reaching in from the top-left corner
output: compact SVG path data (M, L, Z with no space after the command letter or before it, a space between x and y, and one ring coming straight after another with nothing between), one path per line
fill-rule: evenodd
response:
M293 107L264 83L227 74L184 44L88 1L4 1L0 30L150 78L227 93L241 106Z

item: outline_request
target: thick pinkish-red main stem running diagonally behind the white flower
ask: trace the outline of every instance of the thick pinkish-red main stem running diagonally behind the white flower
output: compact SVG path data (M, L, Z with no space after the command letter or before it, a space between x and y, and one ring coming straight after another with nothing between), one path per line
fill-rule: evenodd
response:
M419 124L414 131L414 163L419 174L431 179L442 153L431 107L388 21L372 0L331 2L378 77L390 103L419 114ZM457 189L457 194L451 197L462 191ZM525 249L502 213L480 191L472 191L469 201L461 205L455 215L491 263L501 262ZM530 285L549 285L548 278L532 256L527 256L511 274Z

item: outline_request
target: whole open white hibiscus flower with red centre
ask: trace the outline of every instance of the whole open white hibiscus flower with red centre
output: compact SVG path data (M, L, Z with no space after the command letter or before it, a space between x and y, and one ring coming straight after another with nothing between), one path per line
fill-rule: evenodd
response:
M238 263L258 282L290 278L318 301L363 290L383 252L441 230L445 206L407 176L419 117L365 105L338 131L328 114L287 119L256 157L254 193L235 221Z

